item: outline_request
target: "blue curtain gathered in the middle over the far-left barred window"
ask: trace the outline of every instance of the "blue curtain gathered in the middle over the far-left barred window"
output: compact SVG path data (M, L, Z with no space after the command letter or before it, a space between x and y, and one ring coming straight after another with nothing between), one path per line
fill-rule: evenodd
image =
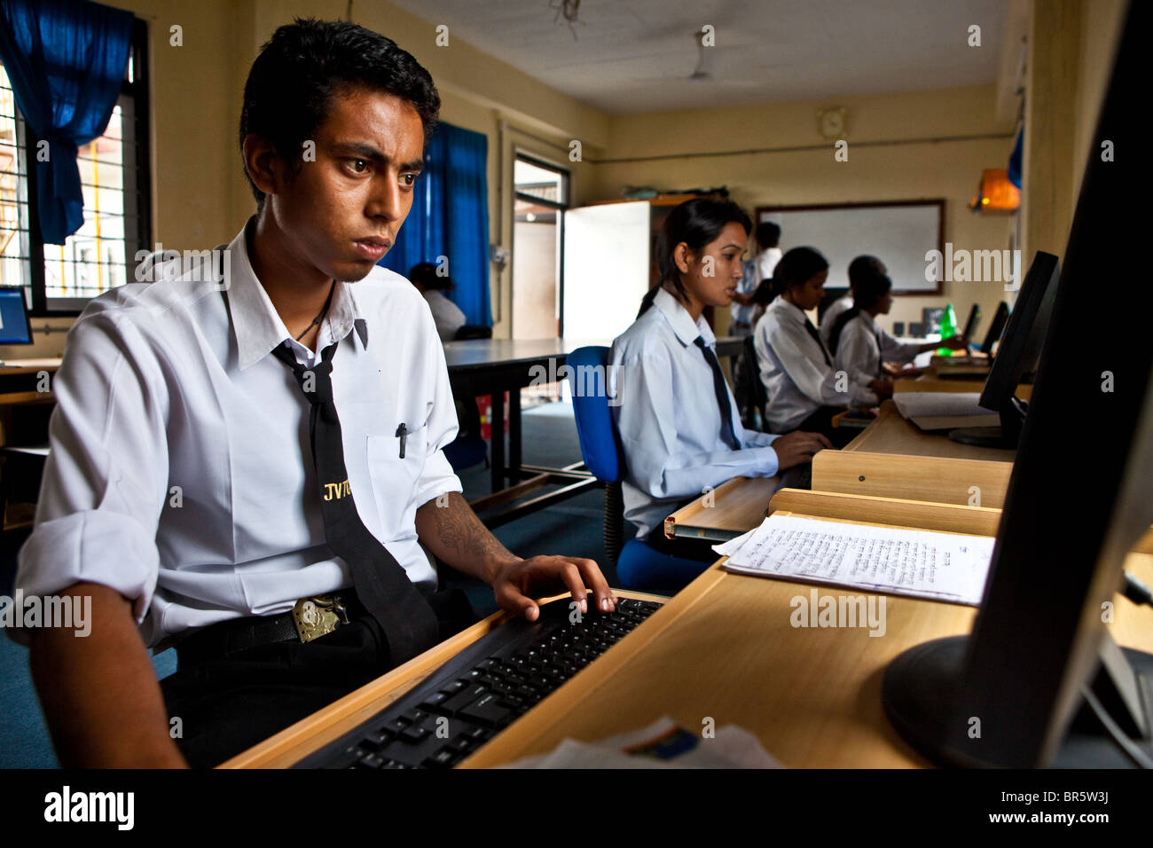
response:
M40 233L50 245L84 223L76 149L104 133L128 66L133 15L88 0L5 0L0 60L47 160L36 167Z

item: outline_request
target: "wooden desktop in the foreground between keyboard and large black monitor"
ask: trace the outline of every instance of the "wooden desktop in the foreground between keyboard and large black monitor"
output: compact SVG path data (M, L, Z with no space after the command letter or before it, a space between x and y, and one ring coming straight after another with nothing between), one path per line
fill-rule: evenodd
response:
M1153 578L1153 557L1133 555L1126 565ZM977 610L888 596L883 637L867 629L793 628L791 600L809 591L714 565L464 767L544 753L565 737L595 741L661 715L689 730L706 719L737 723L786 766L928 765L884 718L881 677L902 651L969 632ZM1153 650L1147 613L1133 605L1118 601L1110 628L1120 644Z

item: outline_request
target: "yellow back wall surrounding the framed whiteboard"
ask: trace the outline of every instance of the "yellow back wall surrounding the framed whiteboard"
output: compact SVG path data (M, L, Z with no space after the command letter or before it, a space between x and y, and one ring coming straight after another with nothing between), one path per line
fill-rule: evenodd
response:
M944 241L955 249L1001 250L1009 247L1009 218L969 211L981 170L1004 167L1012 147L1012 127L994 119L994 98L989 85L615 118L609 156L630 160L590 168L595 190L605 197L618 196L625 183L723 185L749 212L760 205L944 197ZM829 106L847 108L847 162L836 162L832 142L817 133L817 110ZM775 150L717 155L766 148ZM683 156L656 158L670 153ZM1004 298L998 283L942 285L941 297L896 298L887 321L920 321L922 307L947 302L962 321L973 302L988 316ZM726 317L717 318L723 328Z

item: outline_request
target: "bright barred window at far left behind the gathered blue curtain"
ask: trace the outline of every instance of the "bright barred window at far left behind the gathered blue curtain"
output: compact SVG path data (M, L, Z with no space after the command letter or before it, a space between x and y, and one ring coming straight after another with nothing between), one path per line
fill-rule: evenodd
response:
M150 249L146 44L137 20L108 126L76 157L84 223L63 245L40 239L30 166L37 140L0 65L0 284L22 286L33 315L78 314L90 298L135 282L136 252Z

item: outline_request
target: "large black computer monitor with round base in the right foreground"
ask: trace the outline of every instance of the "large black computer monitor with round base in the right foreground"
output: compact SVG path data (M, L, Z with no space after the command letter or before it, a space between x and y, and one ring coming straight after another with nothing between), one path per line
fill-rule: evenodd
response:
M1153 346L1113 329L1116 299L1094 285L1140 271L1140 252L1101 246L1143 242L1143 218L1118 202L1141 157L1101 162L1100 142L1140 143L1131 108L1144 88L1150 9L1130 3L1121 30L973 630L904 652L882 682L894 727L939 763L1153 757L1153 655L1118 648L1106 629L1123 561L1153 520ZM1153 287L1131 286L1125 299L1131 314L1153 314ZM1078 460L1071 436L1082 425L1107 434Z

